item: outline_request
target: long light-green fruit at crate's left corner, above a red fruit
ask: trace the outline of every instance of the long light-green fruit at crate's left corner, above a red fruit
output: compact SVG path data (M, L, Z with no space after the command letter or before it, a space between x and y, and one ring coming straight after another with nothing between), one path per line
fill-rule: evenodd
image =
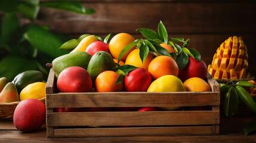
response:
M67 67L77 66L86 70L90 60L91 55L88 54L88 52L71 52L66 55L61 55L53 60L53 71L55 76L58 77L58 74Z

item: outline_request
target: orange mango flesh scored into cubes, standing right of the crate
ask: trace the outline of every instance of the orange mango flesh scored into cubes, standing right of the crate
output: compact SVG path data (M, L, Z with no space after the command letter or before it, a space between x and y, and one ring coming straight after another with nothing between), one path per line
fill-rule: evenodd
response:
M221 43L208 71L214 79L246 79L248 51L241 37L233 36Z

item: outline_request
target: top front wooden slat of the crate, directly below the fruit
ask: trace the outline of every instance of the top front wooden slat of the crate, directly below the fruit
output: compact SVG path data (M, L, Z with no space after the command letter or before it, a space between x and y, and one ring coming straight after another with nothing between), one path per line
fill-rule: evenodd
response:
M168 107L220 105L220 92L91 92L47 95L55 107Z

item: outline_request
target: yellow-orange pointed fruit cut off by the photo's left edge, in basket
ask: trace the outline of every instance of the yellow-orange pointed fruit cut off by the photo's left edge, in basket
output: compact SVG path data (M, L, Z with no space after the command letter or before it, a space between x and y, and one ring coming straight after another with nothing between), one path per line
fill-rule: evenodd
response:
M0 93L0 102L15 102L19 101L18 91L16 86L8 82L7 85L4 86L2 92Z

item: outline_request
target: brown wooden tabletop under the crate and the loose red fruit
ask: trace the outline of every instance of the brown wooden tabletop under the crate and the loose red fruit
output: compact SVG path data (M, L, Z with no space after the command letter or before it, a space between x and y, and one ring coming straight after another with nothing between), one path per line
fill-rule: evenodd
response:
M256 142L256 133L225 132L212 136L125 136L92 138L47 138L43 125L32 133L23 133L10 120L0 120L0 142Z

